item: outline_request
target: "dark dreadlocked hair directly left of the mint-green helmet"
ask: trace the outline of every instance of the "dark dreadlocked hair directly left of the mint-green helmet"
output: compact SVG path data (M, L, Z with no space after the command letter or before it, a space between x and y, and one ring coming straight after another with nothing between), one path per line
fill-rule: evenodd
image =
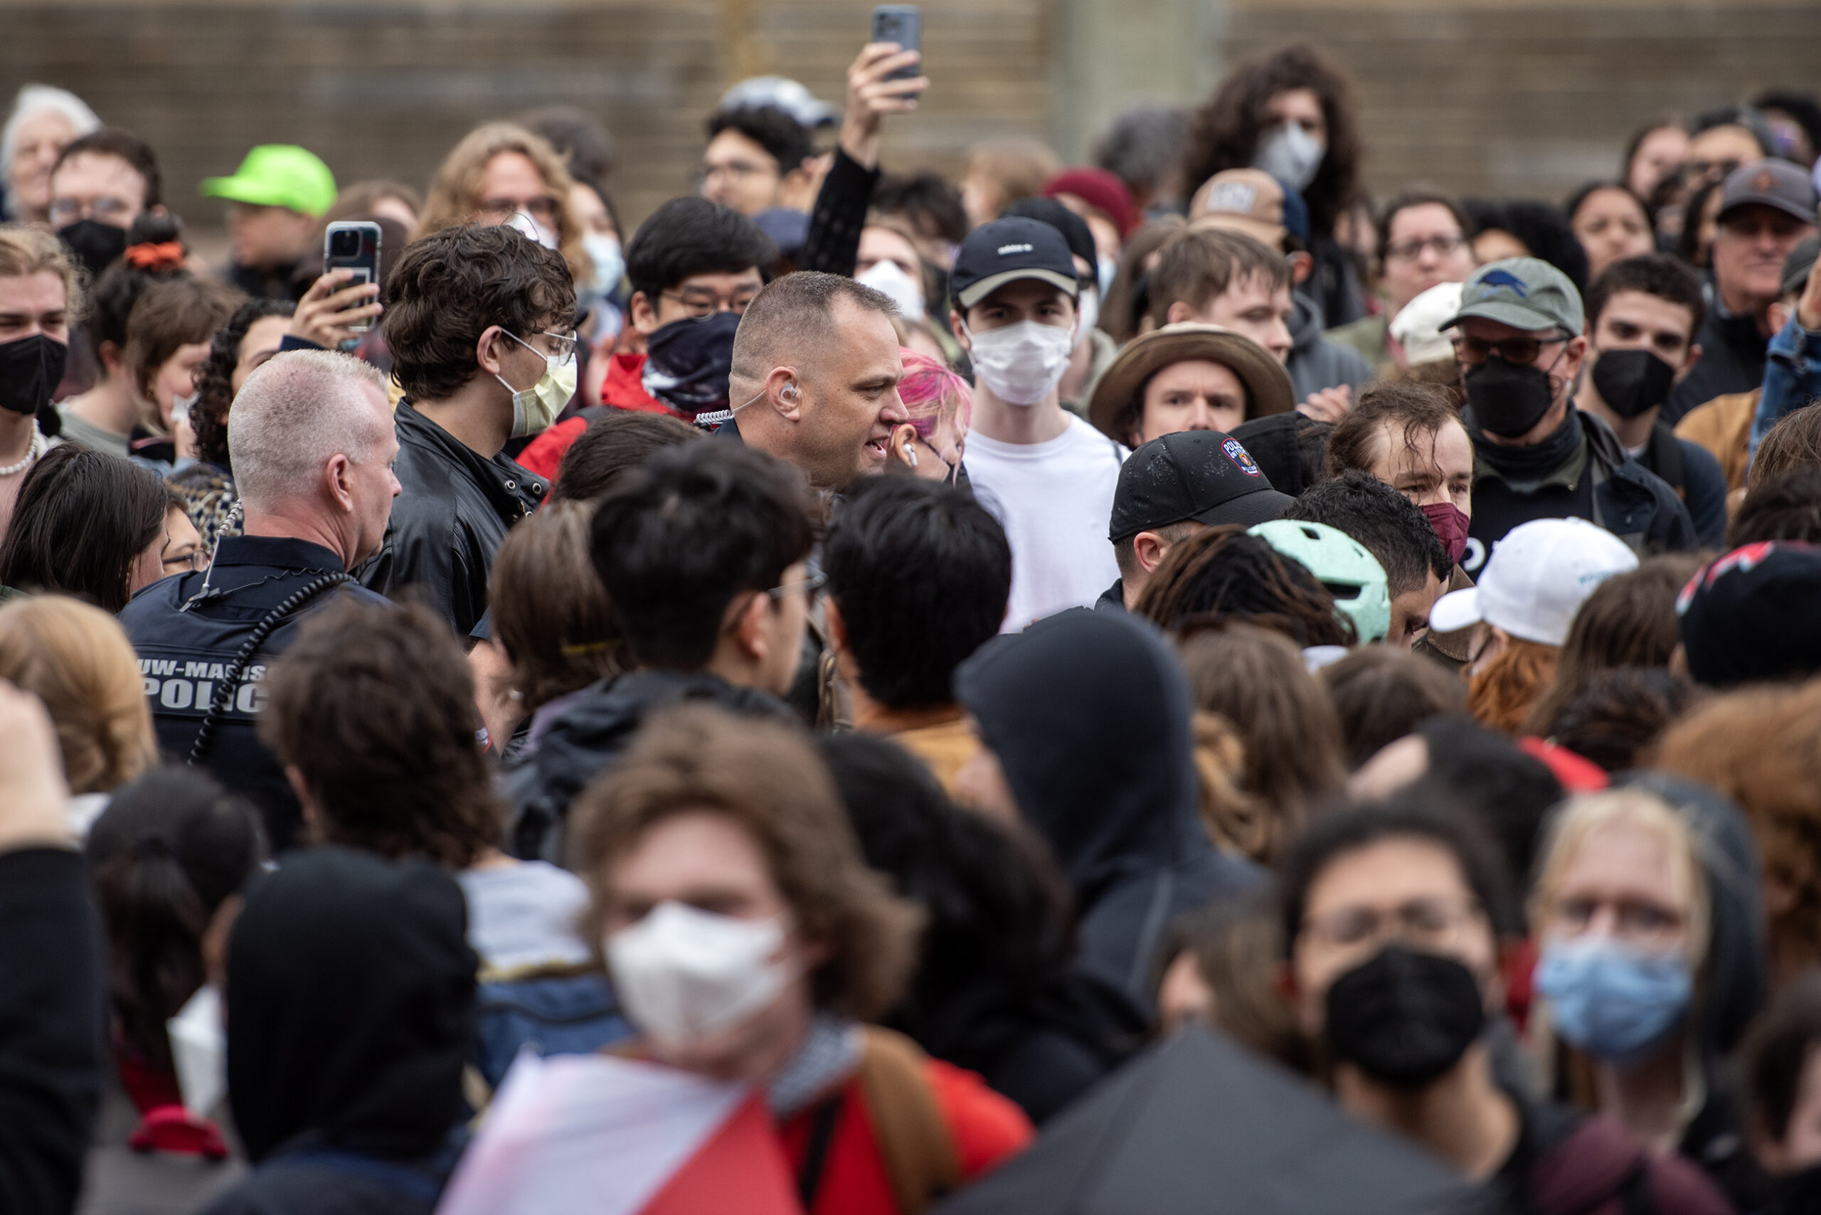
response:
M1307 568L1231 523L1173 545L1133 612L1173 632L1240 619L1298 647L1355 643L1353 625Z

